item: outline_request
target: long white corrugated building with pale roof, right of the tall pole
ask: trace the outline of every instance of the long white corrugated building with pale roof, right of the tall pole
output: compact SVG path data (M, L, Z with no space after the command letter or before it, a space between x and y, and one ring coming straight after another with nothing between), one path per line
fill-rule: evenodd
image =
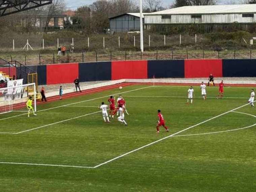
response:
M145 13L145 25L155 24L252 24L256 4L183 6Z

